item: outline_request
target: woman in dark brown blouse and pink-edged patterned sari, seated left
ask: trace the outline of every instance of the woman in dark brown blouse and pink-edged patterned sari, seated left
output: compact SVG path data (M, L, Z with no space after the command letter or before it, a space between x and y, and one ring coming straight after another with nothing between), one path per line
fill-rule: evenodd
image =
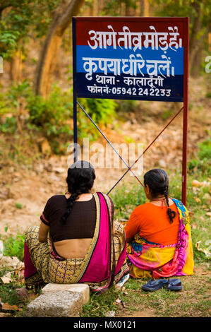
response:
M40 216L40 227L25 234L25 285L86 283L104 292L128 279L126 235L114 222L114 203L94 192L95 170L78 161L68 168L65 195L54 195Z

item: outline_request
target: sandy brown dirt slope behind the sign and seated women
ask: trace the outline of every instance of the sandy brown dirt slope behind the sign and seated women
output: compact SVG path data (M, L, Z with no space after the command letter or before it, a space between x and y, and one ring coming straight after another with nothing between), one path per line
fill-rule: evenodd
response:
M192 158L198 142L207 137L210 129L210 98L205 97L207 87L203 79L191 81L190 84L190 110L188 115L188 158ZM162 106L167 109L169 105L152 102L152 107L145 112L145 106L137 114L129 114L128 119L119 122L118 126L110 126L104 134L111 143L130 142L143 143L146 148L159 134L181 108L181 103L174 104L172 115L168 119L162 118ZM147 105L149 108L149 105ZM143 158L143 171L153 168L181 169L182 160L182 123L183 115L179 114L169 127L162 133L150 147ZM90 124L92 125L92 124ZM102 136L98 140L104 146L107 143ZM97 158L101 158L100 151ZM137 155L136 155L137 156ZM8 235L23 233L30 225L40 225L40 214L47 199L54 194L66 191L66 172L69 154L63 156L52 155L43 158L32 165L31 169L25 165L4 167L0 171L0 234L4 235L4 227L8 227ZM95 190L107 192L126 171L120 169L96 168ZM135 171L135 167L134 167ZM131 179L131 174L124 180ZM171 174L170 174L171 178ZM136 181L134 179L134 181ZM122 182L118 184L120 186ZM17 204L18 203L18 204ZM19 208L18 208L19 207Z

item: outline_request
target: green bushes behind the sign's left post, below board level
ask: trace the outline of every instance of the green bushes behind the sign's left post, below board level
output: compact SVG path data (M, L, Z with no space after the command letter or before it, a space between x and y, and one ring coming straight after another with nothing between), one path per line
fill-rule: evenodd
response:
M72 90L62 92L56 85L47 98L35 95L28 81L13 85L8 93L0 94L0 131L4 134L30 131L33 141L36 137L45 137L53 153L63 153L73 140L72 97ZM80 103L100 126L106 126L115 117L114 100L84 98ZM78 140L84 136L92 140L99 135L90 119L78 108Z

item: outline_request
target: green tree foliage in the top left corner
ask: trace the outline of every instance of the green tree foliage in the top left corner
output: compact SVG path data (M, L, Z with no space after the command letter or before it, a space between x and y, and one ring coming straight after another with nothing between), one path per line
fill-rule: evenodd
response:
M0 1L1 57L9 60L18 47L20 45L23 47L30 37L41 38L46 35L52 13L59 2L59 0Z

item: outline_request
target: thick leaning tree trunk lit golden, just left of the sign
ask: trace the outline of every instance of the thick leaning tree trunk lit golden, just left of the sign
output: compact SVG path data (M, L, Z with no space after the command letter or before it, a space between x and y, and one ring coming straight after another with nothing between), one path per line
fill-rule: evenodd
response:
M72 16L78 14L84 2L85 0L62 0L56 8L35 70L34 90L37 95L45 97L49 94L64 31L71 24Z

